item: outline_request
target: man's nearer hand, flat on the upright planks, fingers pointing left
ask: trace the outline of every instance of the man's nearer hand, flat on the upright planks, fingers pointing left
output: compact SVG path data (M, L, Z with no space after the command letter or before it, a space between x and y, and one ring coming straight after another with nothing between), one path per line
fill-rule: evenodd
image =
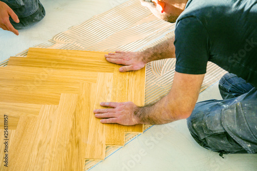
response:
M94 113L96 113L96 118L104 118L101 120L101 123L118 123L121 125L139 124L139 119L134 114L138 107L133 102L103 102L100 103L100 105L105 107L112 107L94 110Z

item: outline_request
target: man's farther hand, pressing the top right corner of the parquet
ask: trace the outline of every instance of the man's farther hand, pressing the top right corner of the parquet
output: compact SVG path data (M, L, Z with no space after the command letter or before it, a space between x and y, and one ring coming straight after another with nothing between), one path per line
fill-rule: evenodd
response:
M139 70L147 63L141 52L116 51L105 55L108 62L125 65L120 67L120 72Z

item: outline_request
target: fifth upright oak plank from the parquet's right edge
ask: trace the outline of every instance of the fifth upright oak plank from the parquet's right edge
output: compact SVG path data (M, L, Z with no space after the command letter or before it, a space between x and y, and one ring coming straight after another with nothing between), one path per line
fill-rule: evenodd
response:
M74 160L69 161L67 149L74 147L70 140L74 137L72 125L76 113L78 94L62 94L58 109L56 111L56 124L53 128L52 139L50 140L49 152L51 154L47 170L75 170L72 168Z

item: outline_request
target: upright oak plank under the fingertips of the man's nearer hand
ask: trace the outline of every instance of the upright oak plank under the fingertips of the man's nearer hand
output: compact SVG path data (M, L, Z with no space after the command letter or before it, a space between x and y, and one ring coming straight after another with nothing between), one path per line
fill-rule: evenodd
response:
M91 99L94 99L93 109L104 108L100 106L101 102L111 100L113 74L99 73L97 86L91 91ZM86 147L86 159L103 160L105 158L105 124L100 123L100 119L94 116L92 112L89 116L89 135L88 145ZM93 138L94 137L94 138Z

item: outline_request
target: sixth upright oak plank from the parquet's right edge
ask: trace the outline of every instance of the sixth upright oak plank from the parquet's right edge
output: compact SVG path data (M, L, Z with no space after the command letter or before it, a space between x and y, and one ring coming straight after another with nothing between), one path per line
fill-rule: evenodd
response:
M54 126L57 122L56 105L44 105L36 122L36 126L31 134L30 139L27 140L27 146L30 148L31 153L27 159L22 159L25 162L24 168L27 170L48 170L50 153L50 141L54 139L53 132ZM21 158L17 158L21 160Z

